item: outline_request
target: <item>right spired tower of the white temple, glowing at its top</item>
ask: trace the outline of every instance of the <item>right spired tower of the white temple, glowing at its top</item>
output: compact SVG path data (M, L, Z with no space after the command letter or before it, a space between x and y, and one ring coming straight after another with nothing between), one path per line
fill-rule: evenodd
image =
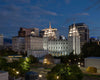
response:
M80 54L80 35L75 24L69 29L68 44L69 52L73 51L74 54Z

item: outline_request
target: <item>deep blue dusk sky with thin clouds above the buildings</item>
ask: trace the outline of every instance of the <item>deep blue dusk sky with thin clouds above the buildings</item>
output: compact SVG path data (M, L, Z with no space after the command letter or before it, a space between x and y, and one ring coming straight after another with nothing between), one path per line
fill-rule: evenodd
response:
M58 28L67 36L68 26L84 22L91 36L100 35L100 0L0 0L0 34L17 36L20 27Z

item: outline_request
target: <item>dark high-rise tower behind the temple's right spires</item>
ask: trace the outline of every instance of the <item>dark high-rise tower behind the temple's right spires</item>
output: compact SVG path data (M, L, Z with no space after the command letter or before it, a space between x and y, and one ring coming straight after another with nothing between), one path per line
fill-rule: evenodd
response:
M69 26L69 29L73 28L73 25ZM82 47L84 43L89 41L89 29L88 26L84 23L76 23L75 27L78 29L80 35L80 46Z

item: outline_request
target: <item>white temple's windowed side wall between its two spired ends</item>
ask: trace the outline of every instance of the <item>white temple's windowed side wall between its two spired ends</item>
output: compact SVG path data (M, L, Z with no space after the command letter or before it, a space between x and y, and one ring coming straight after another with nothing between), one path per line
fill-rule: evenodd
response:
M67 40L47 40L47 38L44 38L43 47L53 56L63 56L68 54Z

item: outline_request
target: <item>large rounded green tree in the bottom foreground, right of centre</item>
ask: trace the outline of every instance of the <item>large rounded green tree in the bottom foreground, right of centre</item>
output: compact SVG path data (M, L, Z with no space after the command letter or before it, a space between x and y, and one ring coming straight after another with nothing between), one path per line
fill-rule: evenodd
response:
M47 74L47 80L82 80L82 71L76 65L58 64Z

